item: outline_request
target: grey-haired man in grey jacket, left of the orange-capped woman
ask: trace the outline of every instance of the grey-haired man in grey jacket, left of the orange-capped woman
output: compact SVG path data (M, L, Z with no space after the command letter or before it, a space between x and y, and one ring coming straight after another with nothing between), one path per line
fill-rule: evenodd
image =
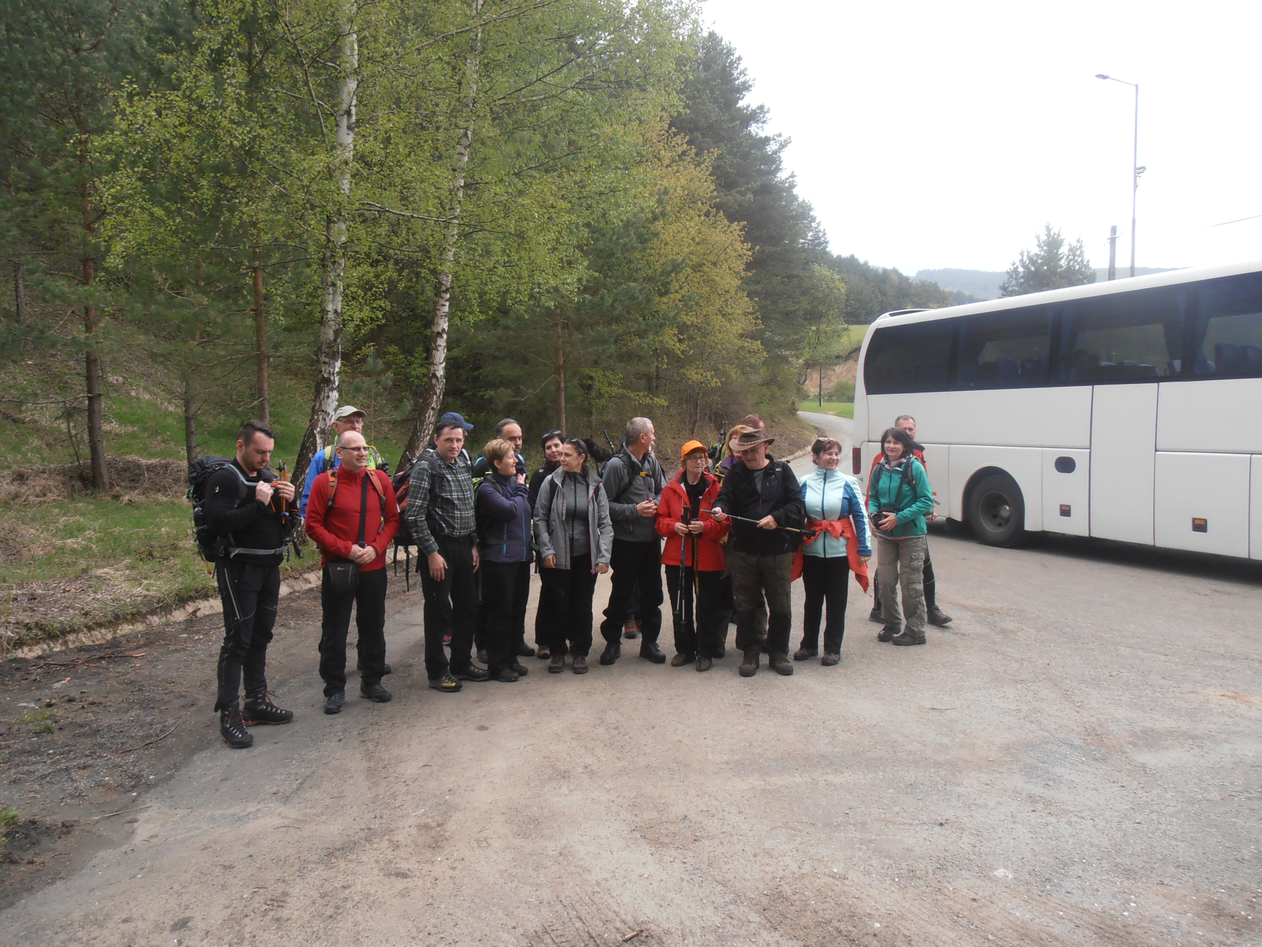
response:
M666 655L658 646L661 634L661 538L655 518L666 475L652 456L658 439L652 422L631 418L627 422L622 450L604 465L604 492L610 499L613 520L613 590L604 609L601 634L604 652L601 664L612 664L622 654L622 628L630 611L636 583L640 586L640 657L654 664L665 664Z

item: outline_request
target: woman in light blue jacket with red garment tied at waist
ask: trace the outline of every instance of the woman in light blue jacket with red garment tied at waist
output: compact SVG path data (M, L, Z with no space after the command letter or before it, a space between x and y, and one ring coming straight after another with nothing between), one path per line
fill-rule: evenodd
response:
M815 470L801 481L801 497L806 503L806 525L818 532L801 551L806 609L801 648L793 657L806 660L819 654L819 621L827 601L824 657L819 663L833 667L842 659L851 561L863 568L872 556L872 539L859 484L838 470L842 446L832 438L819 438L810 452ZM852 542L856 548L851 548Z

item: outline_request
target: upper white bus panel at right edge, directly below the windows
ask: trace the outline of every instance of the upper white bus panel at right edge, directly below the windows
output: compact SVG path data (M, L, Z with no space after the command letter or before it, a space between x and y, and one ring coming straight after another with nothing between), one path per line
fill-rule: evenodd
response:
M1162 383L1157 450L1262 453L1259 403L1262 379Z

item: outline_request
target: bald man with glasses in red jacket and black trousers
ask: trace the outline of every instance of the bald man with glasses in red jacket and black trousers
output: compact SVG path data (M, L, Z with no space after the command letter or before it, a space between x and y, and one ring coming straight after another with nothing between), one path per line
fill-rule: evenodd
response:
M321 549L319 676L324 679L324 712L338 713L346 702L346 633L351 606L360 631L360 694L385 703L381 686L386 664L386 548L399 532L399 503L390 477L369 470L363 434L347 431L337 438L339 466L316 477L307 503L307 535ZM358 580L351 592L338 591L329 563L353 562Z

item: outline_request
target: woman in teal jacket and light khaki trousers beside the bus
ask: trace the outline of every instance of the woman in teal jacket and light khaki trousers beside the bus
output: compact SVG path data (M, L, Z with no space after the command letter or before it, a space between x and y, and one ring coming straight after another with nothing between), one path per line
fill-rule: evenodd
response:
M876 527L881 614L885 628L878 641L925 643L925 515L934 509L929 475L916 460L907 432L888 428L881 434L880 463L868 482L868 514ZM899 586L902 586L902 609ZM906 629L900 628L906 611Z

